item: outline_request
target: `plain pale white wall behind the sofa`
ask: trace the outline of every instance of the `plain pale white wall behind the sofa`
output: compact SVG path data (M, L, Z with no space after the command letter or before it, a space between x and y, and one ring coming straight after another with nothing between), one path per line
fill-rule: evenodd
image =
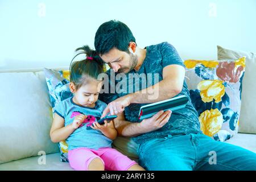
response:
M256 52L256 0L0 0L0 69L68 66L110 19L183 59L217 59L217 45Z

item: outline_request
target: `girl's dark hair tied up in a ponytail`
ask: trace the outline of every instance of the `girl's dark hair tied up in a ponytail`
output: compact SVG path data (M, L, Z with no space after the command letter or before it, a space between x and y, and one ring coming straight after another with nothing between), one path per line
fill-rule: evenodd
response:
M106 71L106 67L104 61L97 55L96 51L90 49L89 46L79 47L76 49L76 52L77 51L81 52L77 53L76 56L85 54L86 59L73 62L76 56L73 57L69 66L69 72L70 81L75 84L76 89L79 89L89 80L92 80L92 78L97 80L98 75Z

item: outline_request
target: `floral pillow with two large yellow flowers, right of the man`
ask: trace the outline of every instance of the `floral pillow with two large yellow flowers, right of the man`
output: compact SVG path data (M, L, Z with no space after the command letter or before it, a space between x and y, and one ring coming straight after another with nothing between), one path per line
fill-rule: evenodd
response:
M237 60L185 60L192 104L201 130L225 141L238 132L245 57Z

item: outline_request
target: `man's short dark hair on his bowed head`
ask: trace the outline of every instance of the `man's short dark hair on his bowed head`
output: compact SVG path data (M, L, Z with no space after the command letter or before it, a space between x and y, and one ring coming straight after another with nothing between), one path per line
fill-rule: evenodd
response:
M114 47L119 51L129 52L130 42L135 42L130 28L118 20L110 20L98 28L94 38L94 47L100 55L108 53Z

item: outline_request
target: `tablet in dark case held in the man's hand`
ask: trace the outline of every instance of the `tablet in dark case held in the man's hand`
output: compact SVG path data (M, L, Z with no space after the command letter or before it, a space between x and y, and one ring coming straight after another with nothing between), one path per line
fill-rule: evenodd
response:
M150 118L156 113L158 113L160 110L175 111L178 109L183 109L185 105L187 105L187 102L188 102L188 97L183 95L183 96L173 97L168 100L141 106L141 109L139 110L139 119L142 120L142 119Z

